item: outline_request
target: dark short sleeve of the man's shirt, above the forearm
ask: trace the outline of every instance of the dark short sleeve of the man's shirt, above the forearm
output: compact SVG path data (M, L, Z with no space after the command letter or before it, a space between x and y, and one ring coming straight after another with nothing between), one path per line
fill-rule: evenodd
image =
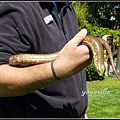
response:
M9 57L18 53L25 53L31 50L29 38L21 35L20 29L27 34L25 17L21 17L19 7L10 3L0 4L0 65L8 63ZM21 23L19 23L21 20Z

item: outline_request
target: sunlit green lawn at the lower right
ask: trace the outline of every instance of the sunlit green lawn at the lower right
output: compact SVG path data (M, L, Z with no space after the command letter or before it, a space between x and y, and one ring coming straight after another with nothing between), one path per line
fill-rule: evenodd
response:
M105 77L87 82L88 118L120 118L120 81Z

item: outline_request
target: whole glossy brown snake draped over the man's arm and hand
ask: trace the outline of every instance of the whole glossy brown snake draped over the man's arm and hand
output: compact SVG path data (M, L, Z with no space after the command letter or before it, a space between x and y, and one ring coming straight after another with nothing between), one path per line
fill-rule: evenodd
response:
M110 62L113 68L113 72L120 80L119 75L116 72L113 62L112 52L109 44L102 38L95 38L93 36L86 36L82 42L83 45L90 47L93 53L93 60L97 72L100 76L104 73L104 49L108 52ZM9 58L9 65L12 66L29 66L35 64L42 64L54 61L59 56L59 52L51 54L17 54L12 55Z

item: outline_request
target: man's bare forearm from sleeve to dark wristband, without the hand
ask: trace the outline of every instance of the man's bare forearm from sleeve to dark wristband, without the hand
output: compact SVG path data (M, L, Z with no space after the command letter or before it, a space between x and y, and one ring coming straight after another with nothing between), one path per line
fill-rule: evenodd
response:
M1 65L0 97L24 95L55 81L50 63L25 68Z

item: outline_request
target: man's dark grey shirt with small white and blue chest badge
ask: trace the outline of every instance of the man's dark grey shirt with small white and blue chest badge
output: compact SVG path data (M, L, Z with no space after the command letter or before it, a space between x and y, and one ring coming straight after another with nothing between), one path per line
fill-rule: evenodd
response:
M61 50L79 31L75 11L66 5L58 6L61 22L52 2L1 2L0 64L18 53ZM86 91L85 70L24 96L1 97L0 117L83 117L87 95L82 96L82 91Z

